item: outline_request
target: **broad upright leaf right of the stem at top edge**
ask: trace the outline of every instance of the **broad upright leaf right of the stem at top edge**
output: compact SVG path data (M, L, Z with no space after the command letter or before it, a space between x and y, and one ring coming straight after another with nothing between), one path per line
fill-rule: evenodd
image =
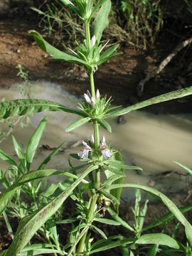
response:
M100 8L100 11L98 12L95 21L93 22L93 35L95 35L96 41L98 45L100 44L100 40L102 38L102 32L109 24L108 16L110 14L111 9L111 1L106 0L102 7Z

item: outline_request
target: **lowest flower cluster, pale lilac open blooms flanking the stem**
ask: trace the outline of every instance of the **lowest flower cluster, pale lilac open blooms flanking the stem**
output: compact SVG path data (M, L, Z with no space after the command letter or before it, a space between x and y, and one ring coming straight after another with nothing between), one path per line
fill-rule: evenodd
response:
M94 142L95 142L94 136L91 135L90 143L92 146L94 145ZM89 152L92 151L91 146L89 146L86 142L82 141L82 148L83 149L82 149L82 151L80 151L78 153L78 156L80 156L81 159L83 159L83 158L88 159ZM99 151L101 152L102 156L105 159L108 159L112 156L110 149L107 149L107 144L105 142L105 136L102 137Z

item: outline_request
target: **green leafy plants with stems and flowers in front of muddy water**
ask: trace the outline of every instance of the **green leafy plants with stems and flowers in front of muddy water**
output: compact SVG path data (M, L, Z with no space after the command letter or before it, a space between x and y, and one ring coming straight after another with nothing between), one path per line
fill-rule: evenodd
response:
M129 166L124 164L119 151L112 149L110 144L105 141L105 136L100 139L99 126L105 128L108 132L112 132L110 124L105 120L108 117L117 117L121 114L127 114L132 110L138 110L148 105L173 100L179 97L192 94L192 87L169 92L165 95L154 97L150 100L137 103L126 108L111 107L110 99L107 96L100 97L100 92L95 92L95 84L93 74L98 66L112 57L119 55L114 53L118 45L112 46L102 53L107 43L102 46L100 44L102 33L108 24L108 16L110 13L111 1L100 0L96 4L92 0L60 0L70 10L75 12L82 20L85 26L85 40L82 43L77 42L77 53L70 50L64 53L61 50L50 45L36 31L31 31L38 46L46 51L51 58L62 60L68 63L82 65L90 75L90 91L84 94L85 100L79 104L80 110L65 107L56 102L47 100L13 100L10 102L3 101L0 103L0 119L6 119L14 116L23 116L25 114L33 114L44 111L60 111L78 114L81 119L70 124L66 132L78 129L82 124L92 123L94 127L94 136L90 140L82 141L82 151L78 154L71 154L75 161L82 164L75 165L69 159L70 168L65 171L56 169L46 169L46 164L55 156L63 144L60 144L42 161L37 170L31 171L31 165L34 161L38 144L46 127L47 119L44 118L35 132L29 139L26 149L23 149L13 137L14 149L16 151L17 160L14 160L0 150L0 158L9 164L6 174L0 169L0 183L5 190L0 196L0 214L3 214L6 226L11 233L13 241L7 250L0 252L0 255L91 255L104 250L110 250L120 247L122 255L133 256L134 252L138 255L142 245L152 245L146 255L156 255L162 252L162 255L170 252L183 252L185 255L191 255L192 246L192 226L183 215L184 212L191 210L191 206L178 209L177 206L163 193L156 191L154 188L141 186L139 184L123 183L125 176L124 170L139 170L141 167ZM122 2L124 4L125 2ZM135 6L135 3L138 5ZM149 1L151 4L151 2ZM146 6L150 6L148 1L129 1L128 4L134 4L134 8L142 8L148 13ZM157 2L156 2L157 3ZM156 3L154 6L156 6ZM142 6L142 7L141 7ZM132 11L129 5L123 6L123 11L129 12L131 20ZM155 8L155 7L153 7ZM139 9L140 10L140 9ZM151 13L153 15L153 12ZM90 37L91 18L95 18L92 23L93 35ZM137 18L137 16L136 16ZM147 16L147 18L149 18ZM136 21L133 19L133 21ZM149 19L149 21L151 21ZM149 30L148 30L149 31ZM20 68L20 75L27 81L26 73ZM176 164L178 164L176 162ZM179 164L191 174L191 169ZM105 173L105 177L101 178L101 174ZM68 179L55 184L51 184L42 191L42 179L53 175L67 176ZM132 209L134 214L134 223L129 225L125 220L119 217L119 203L122 188L136 188L135 205ZM170 210L170 213L157 219L144 227L146 218L147 203L141 206L142 196L140 189L158 198ZM89 199L85 197L85 191ZM23 197L28 197L27 201ZM71 198L76 205L73 212L68 210L68 216L62 218L63 203L67 198ZM114 208L114 210L112 210ZM110 214L110 218L103 218L105 211ZM7 213L9 212L9 215ZM9 223L9 217L18 218L19 225L16 233L13 232ZM166 225L173 218L178 220L178 224L174 228L172 236L166 235L164 230L161 233L145 233L149 228L155 228L157 225ZM69 242L65 244L60 242L57 225L71 224ZM109 236L105 234L97 223L105 225L122 225L127 228L132 236L129 238L122 235ZM186 232L186 245L181 244L177 240L178 228L183 225ZM95 241L92 238L90 229L100 235L101 240ZM33 236L42 238L45 242L41 244L32 244ZM141 249L142 250L142 249ZM170 251L171 250L171 251ZM146 251L145 251L146 252Z

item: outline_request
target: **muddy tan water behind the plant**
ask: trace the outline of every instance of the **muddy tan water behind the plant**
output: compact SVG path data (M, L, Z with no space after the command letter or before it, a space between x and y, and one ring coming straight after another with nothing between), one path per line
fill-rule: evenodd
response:
M16 86L9 90L0 89L0 100L21 98ZM80 99L70 95L59 85L49 82L38 82L33 84L33 97L60 102L68 107L75 107ZM90 137L92 126L84 125L73 132L65 133L65 128L78 116L60 112L46 112L34 114L31 117L31 126L28 128L18 128L14 136L23 146L28 142L33 130L47 115L48 124L41 139L41 145L55 147L60 142L65 141L65 151L58 153L48 168L65 169L68 167L68 154L80 151L81 146L76 142L80 139ZM126 123L117 124L117 119L110 119L112 134L101 128L100 136L105 134L107 142L115 145L121 151L126 164L141 166L144 171L126 171L125 182L154 186L164 193L181 192L186 189L187 179L185 176L176 174L182 170L174 164L174 160L192 166L192 119L189 115L154 115L146 112L131 112L125 115ZM6 153L14 156L11 138L0 145ZM36 155L35 165L41 163L42 159L50 154L50 151L40 147ZM1 169L6 166L1 161ZM58 181L59 178L53 178ZM124 191L127 197L127 191Z

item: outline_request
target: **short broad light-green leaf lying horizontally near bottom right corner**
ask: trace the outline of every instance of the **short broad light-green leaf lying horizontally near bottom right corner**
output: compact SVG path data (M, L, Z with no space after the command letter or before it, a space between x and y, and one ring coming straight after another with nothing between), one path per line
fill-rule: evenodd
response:
M168 247L179 249L178 242L171 238L169 235L162 233L152 233L140 236L140 238L135 241L139 245L166 245Z

